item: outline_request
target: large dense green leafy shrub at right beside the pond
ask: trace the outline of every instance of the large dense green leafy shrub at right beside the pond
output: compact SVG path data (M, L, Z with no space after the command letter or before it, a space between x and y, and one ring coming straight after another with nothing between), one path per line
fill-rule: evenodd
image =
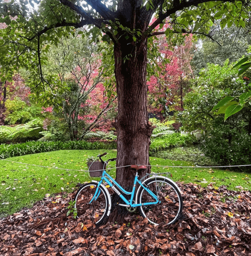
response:
M232 67L233 64L226 61L223 66L208 64L206 69L201 70L199 78L191 81L192 91L185 96L184 111L179 117L184 131L192 132L196 129L203 131L201 150L206 156L218 164L249 164L250 107L243 106L227 120L224 120L224 110L212 111L222 98L231 98L226 102L230 105L237 104L233 99L241 100L240 95L247 95L251 90L247 77L237 75ZM250 95L251 93L247 95L246 100L248 98L250 100Z

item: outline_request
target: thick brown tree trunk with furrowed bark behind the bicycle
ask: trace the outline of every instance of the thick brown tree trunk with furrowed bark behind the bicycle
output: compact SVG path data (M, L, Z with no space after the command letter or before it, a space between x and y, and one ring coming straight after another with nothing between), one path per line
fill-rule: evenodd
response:
M147 40L128 44L123 39L120 44L115 44L114 57L118 94L118 115L114 124L117 131L116 181L131 191L135 173L132 173L130 165L149 165L152 127L147 113ZM141 173L141 177L143 175L145 173ZM116 206L117 195L112 201L112 207ZM123 219L123 211L115 207L109 220L119 222L121 215Z

